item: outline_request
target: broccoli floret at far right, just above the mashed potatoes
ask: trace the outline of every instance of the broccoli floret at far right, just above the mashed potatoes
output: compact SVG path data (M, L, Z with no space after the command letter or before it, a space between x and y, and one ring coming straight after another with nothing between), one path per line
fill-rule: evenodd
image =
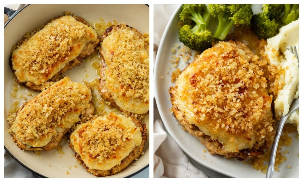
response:
M261 39L277 35L278 30L299 18L299 5L263 4L262 12L253 15L251 27Z

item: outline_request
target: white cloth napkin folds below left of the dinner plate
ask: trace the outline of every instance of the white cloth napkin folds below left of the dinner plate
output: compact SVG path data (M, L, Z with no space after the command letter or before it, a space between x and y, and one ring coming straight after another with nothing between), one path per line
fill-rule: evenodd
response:
M154 122L154 177L208 177L188 160L175 140L163 130L161 120L155 120Z

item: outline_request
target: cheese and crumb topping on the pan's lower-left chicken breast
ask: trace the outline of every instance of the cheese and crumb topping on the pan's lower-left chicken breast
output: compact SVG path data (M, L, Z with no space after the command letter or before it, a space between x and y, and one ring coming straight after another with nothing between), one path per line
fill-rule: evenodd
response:
M43 147L80 120L81 112L90 107L91 97L87 86L65 77L25 103L11 130L28 148Z

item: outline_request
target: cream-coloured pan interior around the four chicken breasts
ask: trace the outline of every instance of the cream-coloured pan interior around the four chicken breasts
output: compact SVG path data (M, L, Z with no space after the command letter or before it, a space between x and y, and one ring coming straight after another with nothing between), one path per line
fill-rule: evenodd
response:
M33 173L42 177L60 177L60 178L90 178L94 177L88 173L74 157L74 151L68 147L68 142L62 140L62 149L53 149L51 151L40 151L40 156L33 151L22 151L12 141L12 136L7 132L7 114L15 100L19 100L18 106L22 104L22 99L16 99L11 96L12 83L14 77L8 64L10 49L25 32L31 32L36 27L45 24L50 18L62 15L65 11L73 12L75 15L82 16L88 22L96 22L100 17L104 21L113 21L126 23L139 32L149 32L149 7L143 4L136 5L29 5L22 9L5 26L4 29L4 146L5 149L24 167ZM23 17L23 19L21 18ZM38 18L37 18L38 17ZM33 21L35 20L35 21ZM72 81L81 82L83 80L91 81L98 78L95 69L90 62L83 62L82 65L70 69L65 73ZM27 100L32 96L26 96L28 89L20 88L18 93L22 93ZM37 95L35 93L34 95ZM24 102L24 100L23 100ZM131 177L149 166L149 120L147 120L148 141L144 148L144 155L139 160L131 163L122 172L109 177Z

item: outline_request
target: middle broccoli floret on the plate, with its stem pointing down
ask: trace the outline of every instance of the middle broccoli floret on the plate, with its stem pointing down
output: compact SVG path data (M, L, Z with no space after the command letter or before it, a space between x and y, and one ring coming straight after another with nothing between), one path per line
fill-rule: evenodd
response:
M209 4L209 12L212 16L218 18L218 27L214 37L224 40L236 25L249 25L253 12L250 4Z

